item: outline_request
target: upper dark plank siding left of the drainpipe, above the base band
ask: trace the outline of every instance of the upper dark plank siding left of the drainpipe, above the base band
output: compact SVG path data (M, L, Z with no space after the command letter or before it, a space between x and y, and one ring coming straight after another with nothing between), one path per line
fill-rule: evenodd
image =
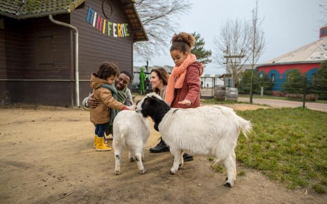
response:
M69 23L68 14L54 18ZM0 29L0 79L73 79L68 28L52 23L49 17L4 17L4 24L5 29Z

